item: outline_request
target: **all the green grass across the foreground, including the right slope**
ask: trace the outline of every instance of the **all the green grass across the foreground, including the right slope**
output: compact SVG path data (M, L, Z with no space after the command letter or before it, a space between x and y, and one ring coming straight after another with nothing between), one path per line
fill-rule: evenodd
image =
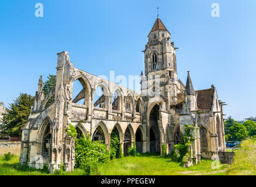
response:
M256 139L242 141L240 150L235 151L233 164L222 164L218 169L212 169L212 163L212 160L202 160L190 168L183 168L171 157L142 154L99 165L99 175L256 175ZM19 165L19 157L15 156L9 161L0 157L0 175L83 175L83 171L75 169L74 172L49 174L47 169Z

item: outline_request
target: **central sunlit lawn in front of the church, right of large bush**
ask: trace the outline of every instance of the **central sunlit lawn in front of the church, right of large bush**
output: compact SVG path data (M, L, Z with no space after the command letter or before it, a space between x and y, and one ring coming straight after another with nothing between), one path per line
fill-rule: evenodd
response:
M171 157L142 154L139 157L124 157L109 161L99 167L102 175L224 175L228 165L212 169L212 160L202 160L195 166L183 168Z

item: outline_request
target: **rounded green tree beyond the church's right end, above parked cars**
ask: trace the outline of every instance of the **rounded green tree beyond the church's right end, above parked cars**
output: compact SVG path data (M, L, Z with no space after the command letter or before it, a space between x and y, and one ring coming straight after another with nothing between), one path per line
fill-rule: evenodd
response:
M230 127L231 140L242 141L248 136L246 127L240 123L235 123Z

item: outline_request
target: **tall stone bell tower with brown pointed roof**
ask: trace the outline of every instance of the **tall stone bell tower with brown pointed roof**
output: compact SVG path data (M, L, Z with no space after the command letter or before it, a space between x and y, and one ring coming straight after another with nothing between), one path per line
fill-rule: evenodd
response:
M169 104L169 108L171 103L176 102L177 93L180 92L177 78L177 48L171 42L171 34L159 16L147 37L148 42L143 51L145 77L142 78L142 95L150 98L146 89L153 92L159 90L160 97Z

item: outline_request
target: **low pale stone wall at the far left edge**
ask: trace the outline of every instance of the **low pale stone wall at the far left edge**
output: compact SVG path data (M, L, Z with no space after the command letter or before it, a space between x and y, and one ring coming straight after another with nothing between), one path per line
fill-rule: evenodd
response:
M15 155L21 154L21 141L6 141L0 142L0 156L11 152Z

